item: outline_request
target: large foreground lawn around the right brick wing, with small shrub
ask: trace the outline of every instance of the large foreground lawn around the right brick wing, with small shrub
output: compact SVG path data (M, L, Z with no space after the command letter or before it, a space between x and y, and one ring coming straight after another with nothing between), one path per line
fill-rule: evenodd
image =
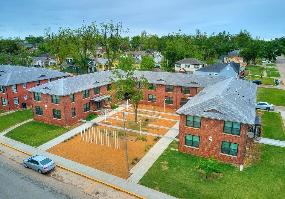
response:
M257 145L261 159L253 165L240 172L238 166L220 162L218 168L224 173L205 179L204 174L196 170L200 157L170 150L178 146L178 142L173 141L140 184L181 199L284 198L285 148Z

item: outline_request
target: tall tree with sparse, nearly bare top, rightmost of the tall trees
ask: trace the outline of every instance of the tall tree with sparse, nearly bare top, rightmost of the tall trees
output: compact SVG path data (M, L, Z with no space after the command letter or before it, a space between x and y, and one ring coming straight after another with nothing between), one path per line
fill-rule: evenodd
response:
M103 22L100 24L100 26L100 40L102 41L103 46L106 48L109 69L111 69L113 66L113 61L119 57L119 41L122 38L122 34L127 33L128 29L123 30L122 22L117 22L117 24L114 24L113 21Z

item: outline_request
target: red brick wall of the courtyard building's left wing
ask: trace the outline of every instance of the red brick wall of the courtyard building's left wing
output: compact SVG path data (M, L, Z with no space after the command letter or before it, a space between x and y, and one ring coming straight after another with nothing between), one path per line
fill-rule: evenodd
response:
M34 119L42 122L47 122L51 124L58 124L58 125L71 125L77 122L80 119L85 118L92 110L95 110L96 104L95 102L91 102L90 99L99 97L101 95L105 95L107 92L107 86L101 86L101 93L95 95L94 89L89 89L89 98L83 99L83 92L74 93L74 102L71 103L70 95L60 96L60 104L52 104L51 102L51 95L48 94L41 94L42 101L35 101L34 96L32 93L33 99L33 113ZM90 111L84 113L83 105L86 103L90 103ZM102 101L102 106L107 104L107 99ZM45 105L47 107L45 107ZM110 103L112 105L112 102ZM43 109L43 116L36 115L35 106L42 107ZM75 117L71 116L71 109L75 108ZM61 120L53 118L53 109L61 111ZM95 114L95 113L93 113Z

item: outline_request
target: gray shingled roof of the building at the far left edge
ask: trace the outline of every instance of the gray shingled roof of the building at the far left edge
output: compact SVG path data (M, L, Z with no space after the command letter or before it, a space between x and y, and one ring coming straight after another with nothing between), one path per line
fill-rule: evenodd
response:
M0 75L1 86L11 86L20 83L68 76L63 72L57 72L51 69L7 65L0 65Z

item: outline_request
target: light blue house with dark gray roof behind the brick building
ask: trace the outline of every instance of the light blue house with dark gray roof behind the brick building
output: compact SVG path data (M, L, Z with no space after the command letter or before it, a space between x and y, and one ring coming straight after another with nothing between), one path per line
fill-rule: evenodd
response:
M230 63L215 63L197 69L194 74L240 78L240 63L235 63L233 61Z

